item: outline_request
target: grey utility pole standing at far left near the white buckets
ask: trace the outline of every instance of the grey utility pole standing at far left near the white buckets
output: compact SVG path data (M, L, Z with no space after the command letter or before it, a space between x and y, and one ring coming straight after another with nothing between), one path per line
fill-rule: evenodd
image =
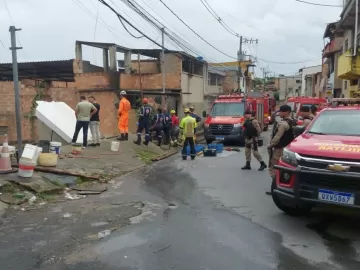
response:
M15 112L16 112L16 136L17 136L17 147L18 157L22 155L22 137L21 137L21 112L20 112L20 89L19 89L19 73L17 64L17 50L21 50L22 47L16 47L16 31L21 31L15 26L10 26L9 32L11 37L12 60L13 60L13 81L14 81L14 92L15 92Z

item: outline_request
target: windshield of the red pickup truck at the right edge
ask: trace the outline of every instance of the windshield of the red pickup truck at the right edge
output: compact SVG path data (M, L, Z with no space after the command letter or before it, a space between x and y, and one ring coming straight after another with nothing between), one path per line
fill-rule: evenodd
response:
M313 121L308 133L360 136L359 110L323 111Z

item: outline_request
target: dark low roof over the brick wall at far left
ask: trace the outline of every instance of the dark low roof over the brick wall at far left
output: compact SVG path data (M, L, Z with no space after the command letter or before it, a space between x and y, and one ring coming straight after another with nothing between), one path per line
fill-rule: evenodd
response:
M19 79L74 81L73 59L18 63ZM12 63L0 63L0 80L12 81Z

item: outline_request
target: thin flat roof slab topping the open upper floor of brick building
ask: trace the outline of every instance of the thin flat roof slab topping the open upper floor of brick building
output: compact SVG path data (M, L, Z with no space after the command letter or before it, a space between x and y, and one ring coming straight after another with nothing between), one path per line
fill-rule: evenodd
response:
M162 49L134 49L134 48L127 48L121 45L117 45L115 43L107 43L107 42L92 42L92 41L81 41L77 40L76 44L86 45L90 47L95 47L99 49L109 49L110 47L115 47L117 52L131 52L133 54L141 54L143 56L152 57L152 58L159 58L160 53L162 52ZM178 53L181 56L188 57L194 60L197 60L199 62L206 63L206 61L199 59L193 55L190 55L183 51L175 51L175 50L168 50L165 49L165 53Z

